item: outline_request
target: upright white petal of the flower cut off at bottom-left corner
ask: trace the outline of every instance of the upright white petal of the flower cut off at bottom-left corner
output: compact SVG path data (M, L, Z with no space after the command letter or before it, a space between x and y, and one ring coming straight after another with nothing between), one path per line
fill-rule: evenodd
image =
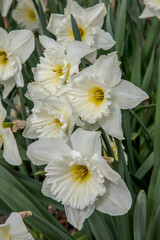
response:
M6 221L6 224L7 232L11 236L11 239L13 237L13 239L34 240L34 238L28 232L19 213L11 213Z

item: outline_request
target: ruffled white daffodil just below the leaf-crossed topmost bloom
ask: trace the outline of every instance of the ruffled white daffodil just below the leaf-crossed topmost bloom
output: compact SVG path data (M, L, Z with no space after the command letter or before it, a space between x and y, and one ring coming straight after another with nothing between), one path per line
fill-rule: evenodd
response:
M40 57L40 64L33 69L35 81L54 95L70 81L73 74L79 72L80 59L95 51L79 41L70 43L66 51L46 36L40 36L40 42L45 51L44 57Z

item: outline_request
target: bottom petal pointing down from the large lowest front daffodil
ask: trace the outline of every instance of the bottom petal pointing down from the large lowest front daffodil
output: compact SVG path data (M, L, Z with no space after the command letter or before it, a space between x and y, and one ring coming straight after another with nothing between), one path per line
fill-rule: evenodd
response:
M70 206L65 206L67 221L78 230L83 227L85 219L88 218L93 212L94 205L88 206L83 210L71 208Z

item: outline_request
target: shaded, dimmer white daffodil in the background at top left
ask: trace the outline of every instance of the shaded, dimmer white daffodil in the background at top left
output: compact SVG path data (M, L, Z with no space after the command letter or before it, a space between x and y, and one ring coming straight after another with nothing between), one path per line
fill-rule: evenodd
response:
M17 0L18 4L12 12L12 17L20 28L41 31L41 23L32 0ZM42 1L41 1L42 3Z

